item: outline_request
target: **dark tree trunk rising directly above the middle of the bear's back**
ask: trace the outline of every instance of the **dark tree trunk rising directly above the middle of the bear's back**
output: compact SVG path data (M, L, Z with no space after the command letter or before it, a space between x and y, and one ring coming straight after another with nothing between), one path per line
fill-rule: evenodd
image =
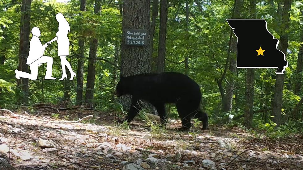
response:
M166 24L167 24L167 0L161 0L157 73L164 72L164 68L165 68Z

